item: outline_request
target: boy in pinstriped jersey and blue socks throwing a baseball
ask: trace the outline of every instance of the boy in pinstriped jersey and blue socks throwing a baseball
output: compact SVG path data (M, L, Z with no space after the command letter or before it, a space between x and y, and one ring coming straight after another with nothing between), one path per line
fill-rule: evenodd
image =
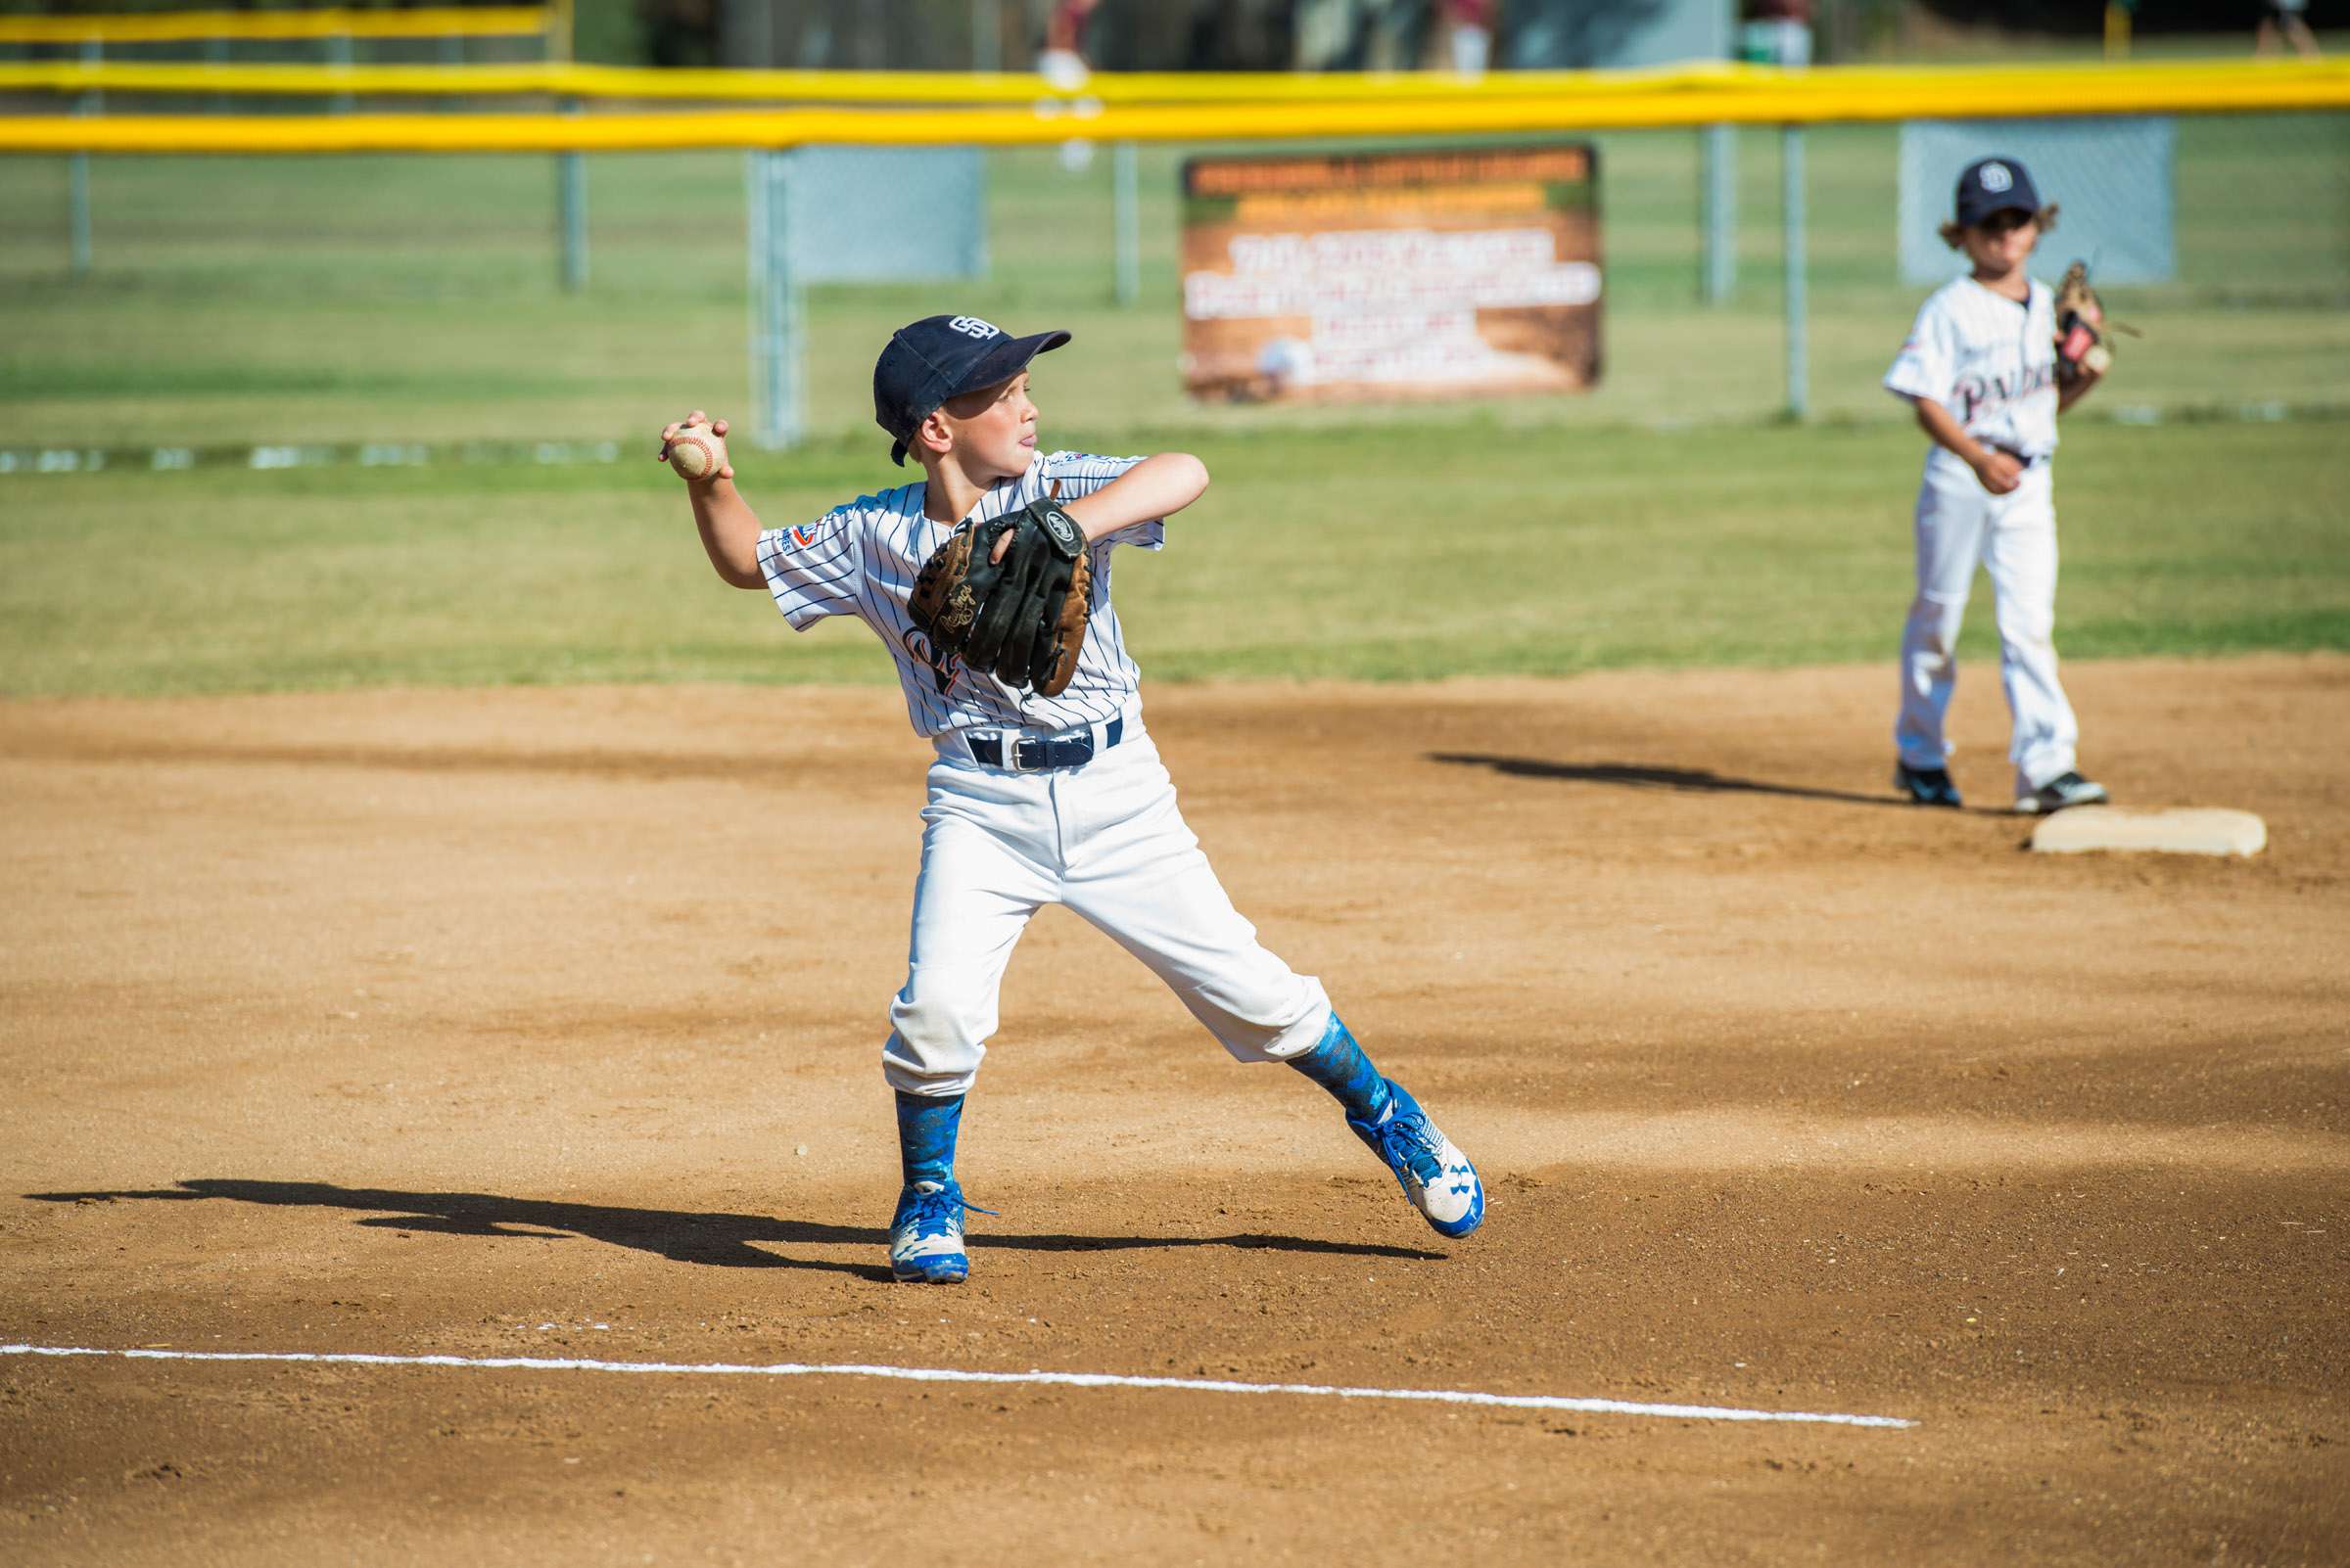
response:
M827 615L872 627L938 753L907 976L881 1047L905 1174L891 1272L952 1284L971 1270L956 1131L1003 967L1043 904L1067 904L1149 965L1231 1056L1285 1061L1328 1089L1429 1225L1464 1237L1485 1218L1469 1157L1379 1075L1321 981L1257 941L1175 810L1109 603L1109 556L1159 549L1208 469L1187 453L1039 453L1029 361L1067 340L1013 338L978 317L893 333L874 364L874 420L891 460L912 455L924 477L797 528L764 528L736 491L714 444L724 420L696 413L660 432L663 458L700 448L677 467L705 469L686 495L719 577L766 589L794 631ZM1058 620L1050 592L1041 629L996 613L1025 603L1003 582L1041 580L1072 589Z

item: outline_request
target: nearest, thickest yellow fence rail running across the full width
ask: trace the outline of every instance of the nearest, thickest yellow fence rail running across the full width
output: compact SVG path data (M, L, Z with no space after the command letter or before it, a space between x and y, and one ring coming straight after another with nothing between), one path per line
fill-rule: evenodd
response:
M73 70L73 68L14 68ZM99 68L110 70L110 68ZM216 68L188 68L197 77ZM228 68L235 75L242 68ZM367 92L369 70L308 70L322 89ZM597 96L576 70L423 70L395 80L404 92L468 92L465 77L531 82L529 92ZM738 73L620 73L634 77ZM740 73L750 75L750 73ZM761 73L768 75L768 73ZM806 77L808 73L771 73ZM0 75L0 87L12 77ZM973 77L954 77L973 82ZM978 77L994 82L989 77ZM1918 117L1981 120L1986 106L2019 115L2261 113L2350 108L2350 63L2291 66L2216 61L2204 66L2052 68L1821 68L1805 73L1701 68L1683 73L1492 75L1448 94L1422 77L1307 77L1332 96L1285 101L1123 101L1116 77L1095 77L1104 96L1060 99L1036 77L1018 108L761 108L611 113L369 113L369 115L5 115L0 153L627 153L684 148L1025 146L1074 134L1100 141L1283 141L1307 136L1441 136L1488 131L1661 129L1697 124L1824 124ZM1234 77L1222 77L1229 82ZM1238 77L1267 87L1292 77ZM78 82L73 75L59 82ZM423 82L437 82L425 87ZM698 85L696 82L696 85ZM2061 85L2061 92L2059 92ZM87 82L85 82L87 87ZM174 87L179 89L179 87ZM320 89L320 87L313 87ZM522 87L515 87L517 92ZM994 87L989 87L994 92ZM1351 92L1356 96L1335 96ZM691 96L691 94L689 94Z

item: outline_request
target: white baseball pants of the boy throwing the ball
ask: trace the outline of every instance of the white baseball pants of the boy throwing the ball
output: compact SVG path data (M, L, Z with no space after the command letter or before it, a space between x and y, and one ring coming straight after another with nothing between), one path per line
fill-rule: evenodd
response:
M971 1089L1013 944L1043 904L1149 965L1236 1059L1314 1049L1330 998L1231 906L1135 718L1081 768L1003 772L949 749L931 765L907 976L881 1049L893 1089Z

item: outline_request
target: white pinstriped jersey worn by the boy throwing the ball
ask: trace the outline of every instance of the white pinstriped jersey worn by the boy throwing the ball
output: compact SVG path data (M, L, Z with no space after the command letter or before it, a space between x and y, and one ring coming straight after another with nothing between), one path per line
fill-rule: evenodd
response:
M971 516L989 521L1018 512L1046 495L1046 486L1055 479L1060 500L1072 502L1093 495L1137 462L1142 458L1067 451L1039 455L1018 479L996 481ZM954 533L954 523L921 514L924 491L926 484L916 481L879 495L858 495L813 523L768 528L759 535L759 570L792 629L806 631L827 615L855 615L872 627L898 660L905 714L914 732L926 739L947 730L994 725L1067 730L1130 711L1142 671L1126 653L1119 613L1109 606L1109 552L1112 545L1159 549L1166 542L1166 523L1135 523L1093 542L1093 622L1076 655L1076 674L1060 697L1039 697L1003 685L992 674L966 669L961 660L933 662L928 638L914 627L905 606L921 563Z

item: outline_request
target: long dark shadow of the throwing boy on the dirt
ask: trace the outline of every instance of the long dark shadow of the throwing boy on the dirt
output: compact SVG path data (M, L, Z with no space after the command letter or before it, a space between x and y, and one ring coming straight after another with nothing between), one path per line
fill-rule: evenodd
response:
M787 1258L766 1246L888 1246L881 1225L830 1225L825 1221L787 1221L771 1214L686 1214L679 1209L616 1209L609 1204L559 1204L536 1197L498 1197L494 1192L390 1192L383 1188L336 1188L324 1181L183 1181L176 1188L148 1192L26 1192L33 1202L80 1204L120 1202L129 1197L186 1202L226 1197L242 1204L282 1209L364 1209L357 1221L383 1230L430 1230L461 1237L524 1237L564 1242L588 1237L611 1246L634 1246L672 1263L714 1268L815 1268L858 1279L888 1279L881 1263L839 1263L832 1258ZM1264 1251L1335 1253L1344 1258L1443 1258L1415 1246L1361 1242L1316 1242L1278 1235L1222 1237L1072 1237L1015 1235L987 1230L971 1235L973 1249L1001 1251L1135 1251L1144 1246L1236 1246Z

